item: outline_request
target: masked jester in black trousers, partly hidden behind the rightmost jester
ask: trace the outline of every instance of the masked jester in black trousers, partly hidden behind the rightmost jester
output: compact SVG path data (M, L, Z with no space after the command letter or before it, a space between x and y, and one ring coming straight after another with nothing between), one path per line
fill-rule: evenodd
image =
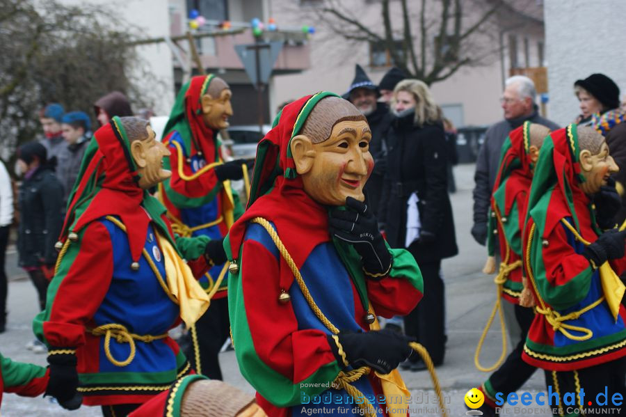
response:
M513 352L479 387L485 395L485 404L492 409L496 407L496 393L517 391L536 370L522 360L528 329L535 317L529 306L520 306L523 290L522 228L527 214L533 165L538 157L538 148L543 143L543 136L548 133L547 127L524 122L508 134L502 145L499 170L492 192L487 241L489 255L495 255L495 239L498 239L501 264L495 281L501 288L501 298L514 304L515 318L522 330L522 338ZM498 300L497 303L499 302L501 301Z

